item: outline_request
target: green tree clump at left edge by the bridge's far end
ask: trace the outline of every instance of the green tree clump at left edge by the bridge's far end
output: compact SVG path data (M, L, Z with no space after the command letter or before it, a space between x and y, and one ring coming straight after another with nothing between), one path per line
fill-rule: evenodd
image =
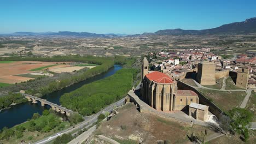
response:
M19 93L4 95L3 97L0 97L0 110L9 107L13 103L20 104L24 101L27 100Z

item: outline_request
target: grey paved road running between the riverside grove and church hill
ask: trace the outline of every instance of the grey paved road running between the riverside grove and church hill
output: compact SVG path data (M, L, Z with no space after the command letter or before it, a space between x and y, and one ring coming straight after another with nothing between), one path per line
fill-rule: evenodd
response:
M98 115L100 115L101 113L104 113L104 112L107 112L107 111L111 112L115 107L124 105L124 103L125 103L125 98L123 98L123 99L121 99L121 100L119 100L119 101L109 105L108 107L106 107L105 109L103 109L100 112L96 113L95 115L92 115L90 117L84 117L85 121L75 125L74 128L72 127L72 128L66 129L66 130L62 130L62 131L60 131L57 134L51 135L49 137L46 137L45 139L37 141L35 143L37 143L37 144L47 143L47 142L49 142L51 140L56 139L56 137L58 137L58 136L60 136L62 134L71 133L73 130L76 130L76 129L83 129L85 125L90 125L90 124L96 122Z

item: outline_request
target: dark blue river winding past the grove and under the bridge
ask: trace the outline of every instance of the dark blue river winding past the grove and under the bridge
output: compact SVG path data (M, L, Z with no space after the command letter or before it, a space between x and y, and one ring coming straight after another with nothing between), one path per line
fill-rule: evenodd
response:
M74 91L75 89L82 87L85 84L104 79L105 77L108 77L110 75L115 74L118 70L120 70L122 67L120 65L114 65L113 68L110 68L106 73L91 77L90 79L84 80L79 83L75 83L74 85L71 85L69 87L63 88L60 91L56 91L47 95L44 95L42 99L46 99L52 103L60 105L60 97L61 95L65 93L69 93ZM33 116L33 113L40 113L42 115L42 112L45 109L50 109L49 105L41 106L41 104L38 102L36 104L33 104L31 102L22 103L19 105L12 106L10 109L5 109L0 112L0 129L3 127L14 127L16 124L20 124L23 122L26 122L28 118L31 118Z

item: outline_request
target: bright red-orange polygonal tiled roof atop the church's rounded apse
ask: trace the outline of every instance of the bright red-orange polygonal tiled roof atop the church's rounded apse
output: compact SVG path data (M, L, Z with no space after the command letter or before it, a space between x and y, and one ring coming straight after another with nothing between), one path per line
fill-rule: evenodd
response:
M155 81L158 83L173 83L173 80L169 76L159 71L154 71L152 73L149 73L146 75L146 77L150 81Z

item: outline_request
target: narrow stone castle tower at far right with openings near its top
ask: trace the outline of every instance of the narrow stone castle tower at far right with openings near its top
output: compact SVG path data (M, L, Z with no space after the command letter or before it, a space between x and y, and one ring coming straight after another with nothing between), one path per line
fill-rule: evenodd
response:
M249 69L246 66L239 67L237 71L236 77L236 86L240 88L247 88L248 83L248 76L249 76Z

